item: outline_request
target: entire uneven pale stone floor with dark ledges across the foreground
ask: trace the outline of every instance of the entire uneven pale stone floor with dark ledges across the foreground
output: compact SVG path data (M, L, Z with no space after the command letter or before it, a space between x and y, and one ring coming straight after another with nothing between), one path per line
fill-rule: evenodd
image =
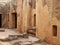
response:
M0 29L0 45L52 45L30 34L21 35L15 30Z

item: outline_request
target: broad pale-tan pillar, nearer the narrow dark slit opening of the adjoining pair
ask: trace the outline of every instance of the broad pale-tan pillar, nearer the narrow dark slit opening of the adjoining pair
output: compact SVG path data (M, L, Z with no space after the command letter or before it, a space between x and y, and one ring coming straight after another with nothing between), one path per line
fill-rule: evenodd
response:
M31 22L31 5L29 4L29 0L24 0L23 3L23 32L27 32L30 27Z

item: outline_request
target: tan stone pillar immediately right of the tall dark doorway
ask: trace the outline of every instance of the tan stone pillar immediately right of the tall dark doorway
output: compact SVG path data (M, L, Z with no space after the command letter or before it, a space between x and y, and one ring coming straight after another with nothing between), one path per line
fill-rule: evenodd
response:
M22 5L22 0L17 0L17 30L20 33L23 33L22 31L22 9L23 9L23 5Z

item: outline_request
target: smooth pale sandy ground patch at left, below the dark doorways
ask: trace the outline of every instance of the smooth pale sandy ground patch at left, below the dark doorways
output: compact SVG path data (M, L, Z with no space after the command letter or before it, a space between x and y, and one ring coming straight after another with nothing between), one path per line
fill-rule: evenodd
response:
M4 32L0 32L0 39L7 38L9 35L19 35L18 32L15 30L11 29L0 29L0 30L5 30Z

